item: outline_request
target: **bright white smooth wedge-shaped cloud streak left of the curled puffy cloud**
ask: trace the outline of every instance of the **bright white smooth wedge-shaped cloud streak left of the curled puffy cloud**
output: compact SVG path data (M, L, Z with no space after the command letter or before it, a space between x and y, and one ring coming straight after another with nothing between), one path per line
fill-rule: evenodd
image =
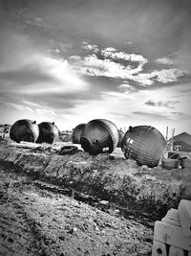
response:
M82 81L76 75L67 60L39 54L33 64L38 67L38 70L42 74L45 76L49 75L50 81L31 81L30 84L22 86L22 93L76 93L77 91L84 91L88 88L88 83ZM35 77L35 74L33 74L33 77Z

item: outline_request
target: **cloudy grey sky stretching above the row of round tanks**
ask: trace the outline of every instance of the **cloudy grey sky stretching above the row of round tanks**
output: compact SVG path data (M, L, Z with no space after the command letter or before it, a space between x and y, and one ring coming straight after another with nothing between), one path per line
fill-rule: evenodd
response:
M191 134L190 0L0 0L0 123Z

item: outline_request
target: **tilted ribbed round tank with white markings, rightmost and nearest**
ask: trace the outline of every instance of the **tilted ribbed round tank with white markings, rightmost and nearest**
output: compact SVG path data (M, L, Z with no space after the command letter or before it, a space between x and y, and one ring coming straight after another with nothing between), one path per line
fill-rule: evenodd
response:
M166 149L166 141L157 128L150 126L129 127L122 142L121 150L126 158L132 158L138 165L155 167Z

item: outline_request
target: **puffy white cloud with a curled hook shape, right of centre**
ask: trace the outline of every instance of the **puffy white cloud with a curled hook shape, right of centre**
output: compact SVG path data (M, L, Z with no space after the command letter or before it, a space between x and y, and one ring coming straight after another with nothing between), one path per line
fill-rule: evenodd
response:
M73 66L76 71L86 76L104 76L126 81L135 81L142 85L152 85L154 81L169 83L178 81L178 78L185 75L183 70L177 68L154 70L150 73L139 73L143 65L147 62L146 58L134 54L124 54L123 52L104 54L104 59L97 58L95 54L86 57L71 56ZM138 62L137 68L130 65L124 66L122 63L113 59L123 59ZM139 74L137 74L139 73Z

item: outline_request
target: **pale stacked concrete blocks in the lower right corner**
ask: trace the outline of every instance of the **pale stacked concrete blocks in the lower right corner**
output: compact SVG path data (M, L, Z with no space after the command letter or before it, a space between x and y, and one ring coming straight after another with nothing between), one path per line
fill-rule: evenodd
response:
M191 201L155 222L152 256L191 256Z

